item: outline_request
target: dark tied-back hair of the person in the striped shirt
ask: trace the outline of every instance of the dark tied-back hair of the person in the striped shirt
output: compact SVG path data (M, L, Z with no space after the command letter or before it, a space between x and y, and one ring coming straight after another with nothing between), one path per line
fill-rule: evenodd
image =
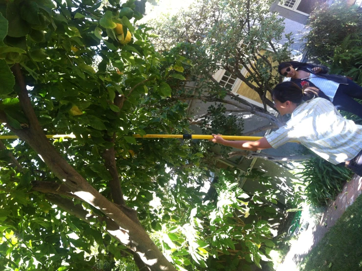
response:
M315 97L319 97L319 89L315 87L309 87L302 90L297 84L286 81L277 84L273 89L272 95L280 102L292 101L296 104L300 104L303 100L310 100Z

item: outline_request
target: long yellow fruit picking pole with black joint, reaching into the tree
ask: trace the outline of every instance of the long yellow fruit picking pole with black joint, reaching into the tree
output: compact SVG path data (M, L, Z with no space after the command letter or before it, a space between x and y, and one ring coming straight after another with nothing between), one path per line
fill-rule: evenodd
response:
M75 138L75 135L46 135L47 138ZM183 134L183 135L163 135L163 134L149 134L149 135L133 135L134 138L180 138L180 139L212 139L212 135L191 135L191 134ZM221 136L226 140L248 140L248 141L256 141L261 139L260 136ZM18 139L18 136L15 135L0 135L0 139Z

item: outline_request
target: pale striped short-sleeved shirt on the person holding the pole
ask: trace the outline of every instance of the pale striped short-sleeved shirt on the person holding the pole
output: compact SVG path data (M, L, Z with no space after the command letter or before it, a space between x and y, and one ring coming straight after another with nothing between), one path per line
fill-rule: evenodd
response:
M330 101L316 98L296 107L291 120L266 139L273 148L298 141L337 165L361 151L362 125L343 119Z

